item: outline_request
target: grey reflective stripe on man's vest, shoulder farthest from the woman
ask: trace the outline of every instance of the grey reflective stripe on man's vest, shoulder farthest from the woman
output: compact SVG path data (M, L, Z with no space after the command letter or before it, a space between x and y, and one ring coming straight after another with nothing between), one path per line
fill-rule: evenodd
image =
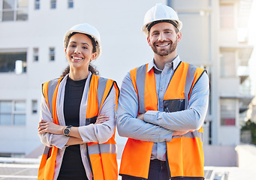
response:
M191 86L194 80L194 73L197 70L197 66L189 65L188 66L188 73L185 79L185 110L188 107L188 95L191 90Z

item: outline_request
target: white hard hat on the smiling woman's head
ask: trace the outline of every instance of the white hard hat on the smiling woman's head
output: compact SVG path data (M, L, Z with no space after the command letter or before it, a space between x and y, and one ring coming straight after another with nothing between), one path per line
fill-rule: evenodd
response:
M70 30L66 31L65 36L64 36L64 47L67 46L68 43L68 36L74 32L77 33L82 33L82 34L88 34L91 36L96 43L96 58L98 58L101 55L101 36L100 33L98 32L97 28L94 26L91 26L87 23L84 24L78 24L73 26Z

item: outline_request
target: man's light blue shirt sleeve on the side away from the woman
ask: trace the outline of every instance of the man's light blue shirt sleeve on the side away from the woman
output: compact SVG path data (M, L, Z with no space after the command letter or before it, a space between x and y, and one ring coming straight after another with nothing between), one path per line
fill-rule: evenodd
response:
M148 111L144 121L157 124L168 130L198 130L206 117L208 102L209 78L204 73L191 91L187 110L173 113Z

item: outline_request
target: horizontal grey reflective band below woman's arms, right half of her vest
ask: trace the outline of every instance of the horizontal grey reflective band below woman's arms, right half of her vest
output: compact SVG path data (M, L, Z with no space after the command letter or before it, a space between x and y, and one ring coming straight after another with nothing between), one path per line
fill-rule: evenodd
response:
M103 153L115 153L116 154L116 144L88 145L88 153L89 153L89 155L103 154Z

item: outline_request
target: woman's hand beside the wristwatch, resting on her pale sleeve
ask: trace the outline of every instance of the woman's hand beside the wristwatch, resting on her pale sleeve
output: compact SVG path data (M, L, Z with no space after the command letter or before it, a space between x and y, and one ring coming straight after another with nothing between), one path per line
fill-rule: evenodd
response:
M54 124L52 121L42 119L39 121L38 133L55 133L62 134L65 126Z

